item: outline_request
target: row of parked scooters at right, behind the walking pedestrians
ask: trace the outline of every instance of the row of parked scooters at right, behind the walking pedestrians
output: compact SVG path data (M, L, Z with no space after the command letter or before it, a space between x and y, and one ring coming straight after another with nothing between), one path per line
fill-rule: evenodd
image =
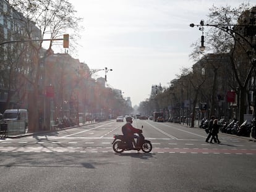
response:
M207 128L209 123L208 118L202 119L200 123L200 128ZM256 138L256 134L254 133L256 130L256 120L248 121L244 120L244 122L239 125L239 121L237 119L230 119L230 120L224 120L221 119L218 121L218 124L220 125L220 131L222 133L228 133L233 134L237 136L252 136Z

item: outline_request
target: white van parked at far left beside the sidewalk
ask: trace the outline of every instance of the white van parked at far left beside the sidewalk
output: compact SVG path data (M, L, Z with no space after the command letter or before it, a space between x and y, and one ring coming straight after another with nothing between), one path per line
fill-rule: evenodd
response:
M25 127L28 125L28 111L27 109L6 109L4 111L3 119L5 121L24 120Z

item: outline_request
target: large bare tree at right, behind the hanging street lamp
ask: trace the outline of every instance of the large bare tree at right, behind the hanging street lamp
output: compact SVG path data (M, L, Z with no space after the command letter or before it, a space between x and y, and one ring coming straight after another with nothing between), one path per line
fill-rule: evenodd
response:
M254 69L252 61L254 55L248 54L248 48L252 50L254 46L244 35L246 23L242 23L241 19L246 18L241 15L248 15L249 9L249 4L241 4L233 9L230 6L213 6L210 9L207 24L203 25L210 27L206 33L207 50L212 51L213 54L229 54L231 67L237 81L236 91L239 93L239 120L241 122L245 113L247 84ZM193 55L194 57L198 56L198 51L194 51Z

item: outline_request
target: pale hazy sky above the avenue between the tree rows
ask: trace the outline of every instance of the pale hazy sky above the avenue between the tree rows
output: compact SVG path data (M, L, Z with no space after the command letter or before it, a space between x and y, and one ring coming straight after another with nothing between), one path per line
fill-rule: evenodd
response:
M202 32L189 27L207 20L209 8L237 7L256 0L69 0L83 18L82 38L75 59L90 69L113 69L108 84L130 97L132 105L149 98L152 85L168 86L192 67L190 47ZM207 38L207 37L205 37ZM104 77L105 72L97 73Z

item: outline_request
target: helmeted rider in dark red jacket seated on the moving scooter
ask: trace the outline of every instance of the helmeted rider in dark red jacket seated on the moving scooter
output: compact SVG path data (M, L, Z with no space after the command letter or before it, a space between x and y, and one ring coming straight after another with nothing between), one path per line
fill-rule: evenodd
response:
M143 140L142 136L134 135L134 133L142 133L142 130L132 126L132 117L126 117L126 124L122 126L122 134L124 134L130 149L133 148L132 142L134 141L134 138L137 138L135 148L140 148L141 141Z

